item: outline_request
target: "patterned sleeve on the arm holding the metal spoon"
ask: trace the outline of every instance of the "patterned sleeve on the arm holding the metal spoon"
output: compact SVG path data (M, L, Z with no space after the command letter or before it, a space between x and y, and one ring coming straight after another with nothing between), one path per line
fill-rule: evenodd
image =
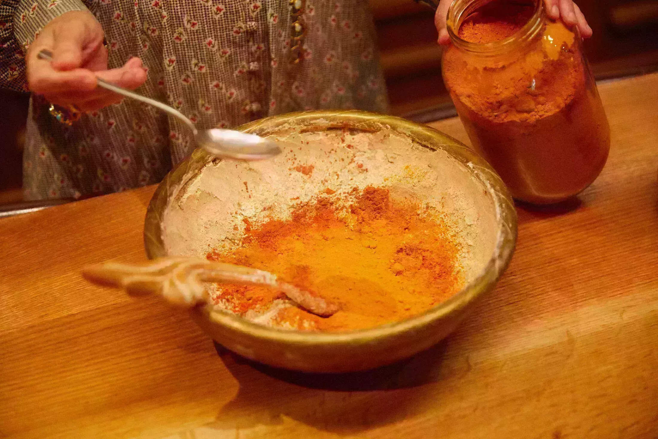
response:
M0 0L0 88L27 91L24 53L53 18L86 11L81 0Z

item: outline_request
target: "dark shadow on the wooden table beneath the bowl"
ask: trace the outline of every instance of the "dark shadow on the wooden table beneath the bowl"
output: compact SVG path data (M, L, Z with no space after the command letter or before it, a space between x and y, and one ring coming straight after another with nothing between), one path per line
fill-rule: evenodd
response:
M433 386L425 384L455 373L442 370L445 346L442 342L372 371L316 374L261 365L215 344L240 390L207 427L272 426L289 417L320 430L350 433L401 421L436 403Z

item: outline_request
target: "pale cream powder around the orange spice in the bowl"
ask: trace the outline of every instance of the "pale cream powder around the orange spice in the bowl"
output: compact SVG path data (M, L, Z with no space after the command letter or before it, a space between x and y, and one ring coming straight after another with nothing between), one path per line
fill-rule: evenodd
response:
M290 219L296 203L327 188L349 203L353 188L372 185L389 188L392 197L427 203L430 215L447 220L461 245L466 282L492 257L498 232L493 201L468 165L445 151L432 151L388 129L347 134L284 127L270 138L282 155L250 163L209 161L174 194L163 220L169 255L230 251L241 244L243 219L256 226L269 218ZM280 302L274 307L290 306ZM245 318L268 324L274 307Z

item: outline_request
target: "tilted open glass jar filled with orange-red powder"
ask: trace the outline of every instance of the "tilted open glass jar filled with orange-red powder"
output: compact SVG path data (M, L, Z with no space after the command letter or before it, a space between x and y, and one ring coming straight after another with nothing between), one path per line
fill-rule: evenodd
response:
M507 38L461 38L463 24L486 3L451 5L443 80L473 147L514 197L536 204L562 201L594 182L610 148L580 35L547 18L539 0L528 5L529 20Z

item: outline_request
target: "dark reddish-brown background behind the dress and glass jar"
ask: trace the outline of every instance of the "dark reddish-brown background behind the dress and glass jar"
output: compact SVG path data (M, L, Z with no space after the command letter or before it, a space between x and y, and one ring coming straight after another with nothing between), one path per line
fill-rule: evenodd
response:
M658 0L578 0L594 36L585 48L597 79L658 70ZM451 113L432 11L412 0L370 0L391 113L420 122ZM28 96L0 90L0 204L20 201Z

